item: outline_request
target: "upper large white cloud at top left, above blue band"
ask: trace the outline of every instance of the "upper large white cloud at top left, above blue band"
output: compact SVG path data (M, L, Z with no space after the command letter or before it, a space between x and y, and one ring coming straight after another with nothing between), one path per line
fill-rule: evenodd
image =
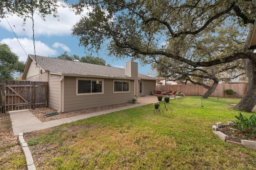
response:
M86 13L87 11L84 10L81 15L76 15L73 11L70 10L70 8L63 8L60 6L58 7L58 18L54 18L53 16L46 16L44 21L42 18L40 18L40 16L34 15L34 35L71 35L72 26L80 20L81 16L86 16ZM18 18L18 16L8 15L6 18L9 21L13 31L17 35L23 35L29 38L33 36L32 20L28 19L26 24L22 26L23 20ZM8 31L12 31L5 18L0 21L0 27L3 27Z

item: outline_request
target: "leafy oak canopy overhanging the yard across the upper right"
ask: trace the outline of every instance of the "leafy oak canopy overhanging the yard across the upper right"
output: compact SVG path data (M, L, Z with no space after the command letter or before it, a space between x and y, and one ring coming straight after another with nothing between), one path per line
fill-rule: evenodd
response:
M89 51L108 47L109 55L117 58L134 54L144 63L158 62L165 56L166 66L176 65L177 69L177 60L193 64L193 68L196 64L206 66L206 61L212 66L216 65L215 61L209 61L242 51L248 25L252 26L256 16L254 3L242 1L149 0L134 4L133 1L84 0L72 6L80 13L86 4L93 10L72 28L72 35L80 38L80 45ZM236 16L241 16L234 11L238 9L242 9L244 18ZM246 23L240 24L243 20ZM170 58L174 62L169 62ZM185 64L179 73L183 68L185 72L195 71ZM202 70L201 78L211 74L210 68L207 69L207 72Z

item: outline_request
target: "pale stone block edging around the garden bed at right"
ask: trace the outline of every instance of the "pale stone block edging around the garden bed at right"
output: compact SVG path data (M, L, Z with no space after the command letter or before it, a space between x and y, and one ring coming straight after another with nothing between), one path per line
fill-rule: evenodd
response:
M238 145L243 145L246 148L250 148L252 150L256 150L256 141L248 141L248 140L242 140L241 139L241 143L235 142L235 141L230 141L228 140L228 135L225 135L224 133L222 133L221 131L218 131L219 127L225 127L225 126L232 126L235 123L232 121L228 121L227 125L222 125L221 122L215 123L215 125L212 126L212 131L213 133L215 133L220 139L222 139L223 141L227 142L227 143L234 143L234 144L238 144Z

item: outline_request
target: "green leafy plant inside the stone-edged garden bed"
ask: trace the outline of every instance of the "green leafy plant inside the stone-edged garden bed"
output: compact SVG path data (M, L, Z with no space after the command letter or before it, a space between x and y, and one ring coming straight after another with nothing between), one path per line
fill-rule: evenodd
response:
M236 123L234 126L232 126L234 129L238 129L239 131L246 131L254 134L256 132L256 115L251 115L248 119L242 113L239 113L239 115L235 115L236 121L233 121Z

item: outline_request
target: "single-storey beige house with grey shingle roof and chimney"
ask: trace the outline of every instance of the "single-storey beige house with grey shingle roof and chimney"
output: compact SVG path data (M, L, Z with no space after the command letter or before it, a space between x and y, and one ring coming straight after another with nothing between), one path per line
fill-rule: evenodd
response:
M132 60L124 69L37 55L28 55L22 79L48 82L48 106L59 112L131 102L150 95L157 80Z

